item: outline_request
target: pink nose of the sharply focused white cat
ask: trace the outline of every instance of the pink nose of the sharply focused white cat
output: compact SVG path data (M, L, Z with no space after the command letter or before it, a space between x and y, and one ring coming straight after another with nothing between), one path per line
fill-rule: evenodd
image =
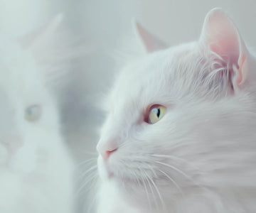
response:
M99 141L97 144L97 151L102 155L102 158L107 161L108 158L110 158L110 155L117 151L117 143L114 141L108 141L108 142L103 142Z

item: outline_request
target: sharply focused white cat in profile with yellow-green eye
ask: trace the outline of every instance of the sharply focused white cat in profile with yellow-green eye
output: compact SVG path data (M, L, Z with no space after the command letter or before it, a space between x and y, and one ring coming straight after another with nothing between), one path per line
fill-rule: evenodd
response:
M138 28L147 50L164 47ZM97 212L256 212L255 68L221 9L198 42L124 67L97 145Z

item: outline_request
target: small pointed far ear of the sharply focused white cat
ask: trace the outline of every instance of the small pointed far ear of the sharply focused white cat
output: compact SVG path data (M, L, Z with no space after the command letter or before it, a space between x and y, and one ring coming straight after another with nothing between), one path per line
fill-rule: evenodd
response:
M136 20L133 20L133 26L136 34L140 40L142 40L142 43L144 44L144 47L148 53L168 48L168 45L166 45L159 38L156 38L155 35L149 33L149 31L146 31L146 29Z

